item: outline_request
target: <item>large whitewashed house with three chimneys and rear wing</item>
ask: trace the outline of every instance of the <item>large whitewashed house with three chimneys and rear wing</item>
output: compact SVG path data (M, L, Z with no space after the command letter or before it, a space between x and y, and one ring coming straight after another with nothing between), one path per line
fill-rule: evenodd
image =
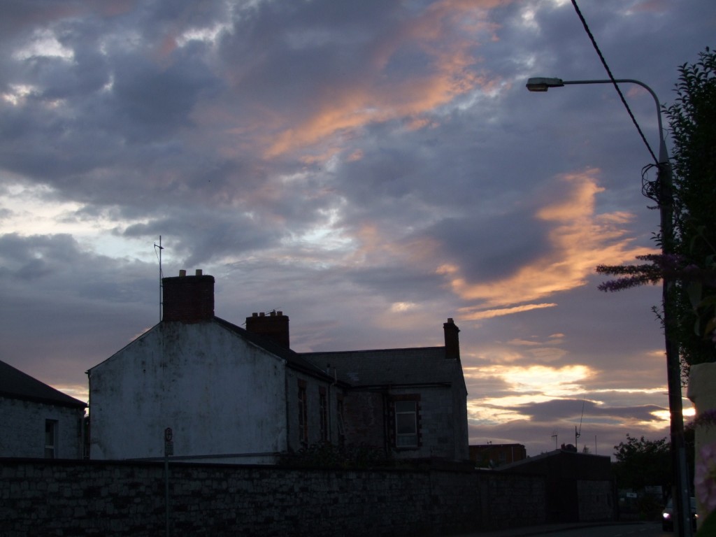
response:
M90 458L274 463L321 442L468 458L452 320L446 347L301 354L288 316L253 314L243 329L214 316L213 288L201 271L163 279L162 321L89 369Z

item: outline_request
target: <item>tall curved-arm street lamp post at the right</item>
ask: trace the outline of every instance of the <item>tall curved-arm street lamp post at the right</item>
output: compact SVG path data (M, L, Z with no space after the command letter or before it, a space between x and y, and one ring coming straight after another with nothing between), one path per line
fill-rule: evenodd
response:
M657 119L659 122L659 162L657 163L657 185L659 186L659 218L662 229L662 254L666 256L674 252L674 228L673 216L673 195L672 195L672 173L669 163L669 154L664 140L662 129L662 111L659 99L654 90L634 79L616 80L562 80L559 78L531 78L528 79L526 87L531 92L546 92L551 87L563 87L571 84L614 84L614 83L638 84L646 89L654 98L657 105ZM691 502L690 486L688 483L688 470L686 465L686 449L684 445L684 417L681 398L681 367L679 364L679 345L670 335L672 321L672 286L673 281L663 278L662 302L664 307L664 344L667 355L667 384L669 387L669 414L671 415L671 453L674 467L674 513L677 518L674 521L674 530L678 536L691 537Z

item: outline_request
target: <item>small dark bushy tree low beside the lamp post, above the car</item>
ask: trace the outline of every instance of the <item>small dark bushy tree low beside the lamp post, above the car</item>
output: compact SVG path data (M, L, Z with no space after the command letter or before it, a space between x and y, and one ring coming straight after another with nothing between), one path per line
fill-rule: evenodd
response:
M668 491L672 483L670 445L661 440L639 439L627 434L627 442L614 446L614 475L619 488L642 490L647 485L660 485Z

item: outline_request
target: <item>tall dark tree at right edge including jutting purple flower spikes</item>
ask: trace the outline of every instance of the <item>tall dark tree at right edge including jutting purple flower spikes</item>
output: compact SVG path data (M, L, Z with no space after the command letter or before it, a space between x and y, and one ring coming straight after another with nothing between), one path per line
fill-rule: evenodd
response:
M640 256L631 266L599 266L597 272L618 276L599 286L619 291L674 282L674 322L664 327L679 344L684 369L716 361L716 52L708 47L695 64L679 67L677 98L664 107L672 141L673 254ZM660 185L647 183L652 197ZM657 201L658 196L653 196ZM662 243L662 235L656 236Z

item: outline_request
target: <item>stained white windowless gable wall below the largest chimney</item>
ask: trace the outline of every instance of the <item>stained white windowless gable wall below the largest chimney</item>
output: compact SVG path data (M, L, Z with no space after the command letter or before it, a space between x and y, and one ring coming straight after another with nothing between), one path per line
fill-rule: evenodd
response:
M213 322L162 323L90 370L90 458L286 450L285 364ZM217 459L263 463L266 457Z

